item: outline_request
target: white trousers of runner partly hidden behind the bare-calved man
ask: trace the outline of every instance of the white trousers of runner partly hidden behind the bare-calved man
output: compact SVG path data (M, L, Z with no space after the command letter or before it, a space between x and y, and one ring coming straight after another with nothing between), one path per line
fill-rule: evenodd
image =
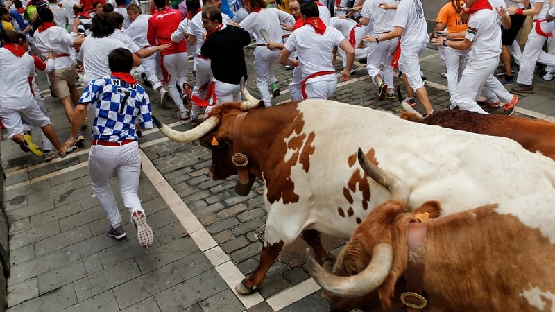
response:
M375 34L379 35L379 34ZM391 67L391 58L397 49L399 40L380 41L379 43L370 43L368 45L366 58L366 71L372 77L372 83L376 85L374 78L382 77L388 88L393 88L393 67Z

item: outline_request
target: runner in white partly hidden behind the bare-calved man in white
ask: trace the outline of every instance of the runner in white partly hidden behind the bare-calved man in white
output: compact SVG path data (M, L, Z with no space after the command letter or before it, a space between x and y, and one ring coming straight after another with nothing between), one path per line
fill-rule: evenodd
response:
M385 0L388 5L395 5L394 0ZM361 10L360 23L362 25L373 25L373 35L379 36L384 33L393 31L393 19L395 19L394 10L383 10L379 8L382 0L366 0ZM364 37L363 37L364 40ZM372 82L378 88L378 100L382 101L386 97L395 98L393 91L393 67L391 67L391 58L395 49L399 44L398 38L390 40L379 40L380 44L368 44L366 55L366 70L372 78Z

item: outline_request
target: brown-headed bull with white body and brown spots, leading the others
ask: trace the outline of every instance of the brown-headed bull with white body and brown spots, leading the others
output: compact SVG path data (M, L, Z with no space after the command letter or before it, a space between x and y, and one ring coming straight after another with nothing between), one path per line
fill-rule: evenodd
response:
M155 120L173 141L212 149L214 180L238 175L245 196L255 177L264 182L267 210L259 266L237 286L262 284L283 247L300 234L317 259L326 257L318 232L348 238L370 209L391 193L368 179L358 146L407 182L409 207L436 198L445 214L498 202L555 185L555 162L514 141L429 127L393 114L334 101L307 100L259 108L247 101L216 105L209 118L185 132Z

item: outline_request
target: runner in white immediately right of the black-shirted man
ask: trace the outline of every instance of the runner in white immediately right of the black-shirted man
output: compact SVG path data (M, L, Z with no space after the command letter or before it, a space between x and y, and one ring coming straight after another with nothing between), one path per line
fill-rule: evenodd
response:
M280 95L278 87L278 79L275 78L272 63L278 60L280 51L270 50L266 47L266 40L261 34L262 28L266 29L269 42L283 42L282 27L280 24L293 26L295 19L289 13L277 8L266 8L266 2L263 0L244 0L243 6L249 13L248 16L241 21L240 26L248 33L256 35L257 48L255 49L255 75L256 85L262 96L265 106L271 106L270 92L268 85L272 89L273 97Z

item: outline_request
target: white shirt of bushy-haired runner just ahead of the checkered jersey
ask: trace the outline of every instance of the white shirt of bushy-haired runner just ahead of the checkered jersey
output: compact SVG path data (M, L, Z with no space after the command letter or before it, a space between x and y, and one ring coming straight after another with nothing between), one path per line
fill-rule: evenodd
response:
M126 48L126 44L114 38L87 37L81 45L77 60L83 62L85 75L83 83L88 85L91 80L109 76L112 71L108 67L108 55L114 49Z

